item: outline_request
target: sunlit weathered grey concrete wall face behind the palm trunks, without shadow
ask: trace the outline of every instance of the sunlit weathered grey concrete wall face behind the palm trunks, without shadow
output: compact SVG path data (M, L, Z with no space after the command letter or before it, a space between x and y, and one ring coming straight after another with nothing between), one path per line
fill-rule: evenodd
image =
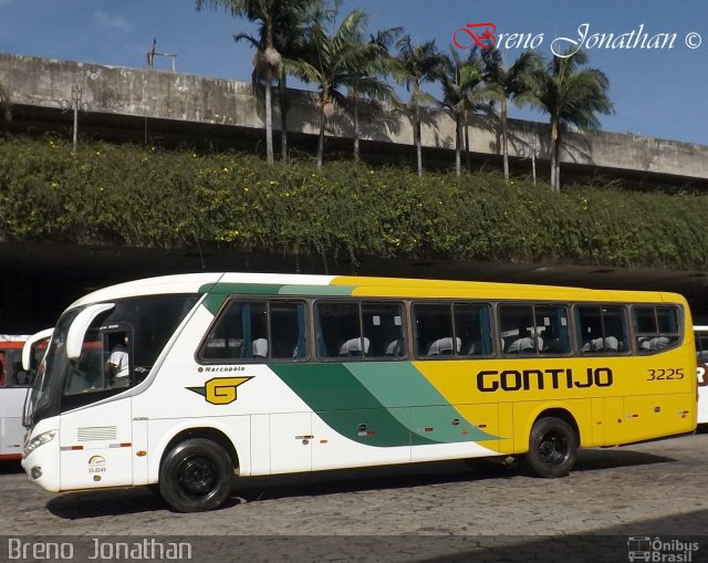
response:
M250 83L164 71L116 67L0 54L0 83L12 102L59 108L72 100L72 88L81 90L82 103L92 113L105 113L199 124L232 125L262 129L262 107ZM273 124L279 126L275 110ZM399 111L364 107L363 138L410 145L413 126ZM538 158L549 158L548 126L511 121L510 156L528 157L538 146ZM291 132L316 134L319 113L314 94L291 91L288 114ZM327 135L352 137L353 127L343 112L330 121ZM641 137L632 134L569 132L564 136L562 161L597 169L624 170L647 177L675 177L677 184L708 179L708 146ZM481 118L470 131L471 149L480 155L499 155L498 134ZM455 123L441 111L424 112L423 143L426 147L455 147Z

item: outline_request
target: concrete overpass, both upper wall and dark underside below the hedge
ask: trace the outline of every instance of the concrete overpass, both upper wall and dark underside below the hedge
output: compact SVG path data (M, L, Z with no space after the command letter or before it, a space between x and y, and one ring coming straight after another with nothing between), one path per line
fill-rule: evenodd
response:
M264 138L262 108L250 83L0 54L0 83L12 96L10 132L54 132L71 138L79 105L80 138L132 140L253 150ZM79 95L80 93L80 95ZM313 150L319 121L312 93L291 91L288 125L292 145ZM80 100L79 100L80 98ZM425 164L450 167L455 124L440 111L424 115ZM362 150L373 161L413 163L409 118L393 110L363 111ZM280 118L275 111L274 124ZM529 174L530 147L538 146L539 174L548 174L548 127L512 121L511 164ZM352 124L337 115L327 129L327 154L351 152ZM278 139L279 135L275 135ZM642 187L708 188L708 147L605 132L569 133L562 178L605 177ZM500 139L477 119L470 131L477 166L501 164ZM334 257L253 256L212 249L131 249L0 241L0 333L33 332L51 325L81 294L124 280L199 270L302 273L360 273L497 280L523 283L634 288L686 294L698 320L708 323L708 272L620 269L559 264L415 262L362 258L360 264Z

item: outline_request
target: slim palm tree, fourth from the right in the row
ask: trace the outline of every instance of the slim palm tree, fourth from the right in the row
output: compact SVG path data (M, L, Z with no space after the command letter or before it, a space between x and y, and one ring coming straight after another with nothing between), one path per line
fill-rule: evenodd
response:
M418 161L418 176L423 176L423 145L420 140L420 104L435 103L435 98L423 91L425 82L434 82L440 73L441 58L435 46L435 41L426 41L420 45L410 43L410 35L400 39L398 48L397 67L394 72L396 80L410 92L409 105L413 106L413 136Z

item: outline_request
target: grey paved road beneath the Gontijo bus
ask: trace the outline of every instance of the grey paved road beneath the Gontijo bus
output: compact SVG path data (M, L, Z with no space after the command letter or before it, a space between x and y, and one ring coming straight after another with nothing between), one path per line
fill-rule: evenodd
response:
M205 536L186 540L198 561L628 561L629 536L671 555L697 542L689 561L708 561L707 475L698 434L583 450L563 479L461 462L259 478L222 510L179 514L143 488L48 493L6 463L0 561L8 536L150 534Z

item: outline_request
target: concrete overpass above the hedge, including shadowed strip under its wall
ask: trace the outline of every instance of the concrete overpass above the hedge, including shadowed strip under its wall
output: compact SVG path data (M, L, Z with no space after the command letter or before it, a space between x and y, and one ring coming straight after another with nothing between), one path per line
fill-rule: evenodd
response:
M82 136L165 144L208 140L210 146L251 149L264 137L262 107L250 83L11 54L0 54L0 83L12 96L10 127L15 132L59 129L71 135L73 115L62 111L62 103L73 101L82 107ZM288 128L293 145L313 148L320 127L315 96L290 91L290 101ZM455 122L439 110L425 111L423 121L426 164L450 166ZM278 108L273 124L279 127ZM529 156L532 147L538 147L539 174L545 174L548 126L511 119L510 129L516 171L530 173ZM362 133L365 157L412 161L413 126L405 113L365 105ZM353 125L348 116L340 112L330 121L326 134L330 153L351 152ZM476 164L501 161L500 137L481 117L475 118L469 137ZM708 146L607 132L568 132L564 139L562 177L708 188Z

